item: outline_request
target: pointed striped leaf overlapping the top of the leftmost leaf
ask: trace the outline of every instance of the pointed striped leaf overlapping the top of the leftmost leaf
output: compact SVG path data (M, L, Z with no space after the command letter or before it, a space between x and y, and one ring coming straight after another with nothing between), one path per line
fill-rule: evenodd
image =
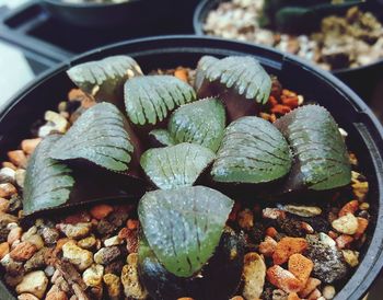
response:
M84 159L111 171L126 172L134 146L124 126L124 117L116 106L98 103L83 113L56 142L50 157Z

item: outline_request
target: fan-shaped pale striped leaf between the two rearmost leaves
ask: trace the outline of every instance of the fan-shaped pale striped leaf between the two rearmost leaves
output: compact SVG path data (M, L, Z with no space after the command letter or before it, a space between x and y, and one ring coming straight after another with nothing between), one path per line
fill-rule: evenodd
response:
M125 107L136 125L155 125L174 108L195 100L193 88L173 76L137 77L125 84Z

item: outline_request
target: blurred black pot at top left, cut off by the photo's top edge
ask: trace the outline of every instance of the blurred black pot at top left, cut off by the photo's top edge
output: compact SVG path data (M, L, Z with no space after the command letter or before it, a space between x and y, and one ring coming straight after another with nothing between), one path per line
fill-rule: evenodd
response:
M62 0L40 1L50 14L61 22L81 27L140 27L164 20L172 0L127 0L120 3L71 3ZM143 22L144 21L144 22Z

